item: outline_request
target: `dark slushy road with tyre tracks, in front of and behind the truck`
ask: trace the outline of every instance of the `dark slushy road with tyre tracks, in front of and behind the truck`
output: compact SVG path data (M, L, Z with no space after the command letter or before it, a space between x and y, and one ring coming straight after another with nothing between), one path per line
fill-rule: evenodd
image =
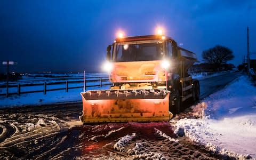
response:
M202 79L201 99L238 76ZM1 109L0 159L220 158L177 137L168 122L82 125L81 111L81 103ZM189 111L181 115L193 116Z

